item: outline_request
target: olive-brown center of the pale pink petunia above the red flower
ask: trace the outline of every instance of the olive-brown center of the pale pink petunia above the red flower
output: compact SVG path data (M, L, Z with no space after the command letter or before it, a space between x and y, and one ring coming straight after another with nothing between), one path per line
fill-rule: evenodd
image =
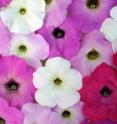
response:
M89 60L96 60L100 57L100 54L98 51L96 51L95 49L92 49L88 54L87 54L87 58Z

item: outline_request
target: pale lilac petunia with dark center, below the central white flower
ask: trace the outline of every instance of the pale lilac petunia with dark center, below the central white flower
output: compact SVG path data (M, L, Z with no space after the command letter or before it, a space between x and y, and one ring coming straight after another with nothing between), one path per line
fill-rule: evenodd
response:
M59 107L55 108L55 112L51 115L50 123L55 124L81 124L84 121L84 115L82 112L83 103L79 102L74 106L66 109L61 109Z

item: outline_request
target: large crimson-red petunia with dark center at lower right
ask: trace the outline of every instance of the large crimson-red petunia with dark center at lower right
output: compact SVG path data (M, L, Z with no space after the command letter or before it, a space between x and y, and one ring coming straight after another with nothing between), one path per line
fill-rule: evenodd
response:
M83 84L80 93L85 117L91 121L117 121L117 71L103 63L84 78Z

